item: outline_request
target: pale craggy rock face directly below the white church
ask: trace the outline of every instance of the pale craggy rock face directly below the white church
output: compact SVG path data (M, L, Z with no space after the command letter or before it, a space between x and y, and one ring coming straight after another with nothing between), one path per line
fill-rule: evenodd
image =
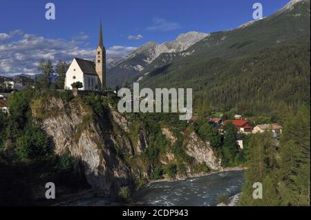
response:
M80 159L86 179L93 188L110 194L120 186L131 186L131 172L115 152L115 146L133 153L135 150L132 150L131 141L121 136L121 132L116 134L113 131L110 114L99 118L81 103L70 102L65 106L57 99L50 100L44 108L54 109L57 114L42 118L34 107L32 114L35 118L41 118L42 128L53 139L55 153L62 154L68 149L73 157ZM120 128L128 130L125 119L120 115L115 115L113 119L120 123Z

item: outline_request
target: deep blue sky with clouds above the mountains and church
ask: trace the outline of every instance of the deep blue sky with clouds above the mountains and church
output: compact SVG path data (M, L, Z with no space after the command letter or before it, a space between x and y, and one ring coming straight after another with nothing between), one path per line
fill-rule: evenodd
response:
M55 3L55 20L45 19L48 2ZM88 57L97 45L100 19L108 54L117 56L147 41L172 41L191 30L209 33L236 28L252 20L256 2L263 4L267 17L289 0L0 0L0 74L35 71L31 66L40 54L46 59ZM33 46L36 43L38 47ZM43 47L42 53L37 51L39 47ZM50 53L54 50L62 52ZM9 62L11 59L17 60ZM21 67L10 67L13 64Z

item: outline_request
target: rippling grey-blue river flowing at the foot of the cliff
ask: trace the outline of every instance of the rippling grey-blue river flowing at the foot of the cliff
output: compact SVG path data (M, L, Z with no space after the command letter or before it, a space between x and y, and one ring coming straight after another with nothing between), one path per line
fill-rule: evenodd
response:
M216 206L220 194L241 192L243 171L229 171L175 182L151 183L133 194L146 206Z

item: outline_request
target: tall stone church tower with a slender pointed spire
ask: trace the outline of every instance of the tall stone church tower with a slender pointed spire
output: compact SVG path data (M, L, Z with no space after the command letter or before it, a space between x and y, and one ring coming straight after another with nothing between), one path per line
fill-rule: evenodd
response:
M100 22L100 42L96 48L95 65L98 77L100 77L100 88L106 86L106 50L102 41L102 21Z

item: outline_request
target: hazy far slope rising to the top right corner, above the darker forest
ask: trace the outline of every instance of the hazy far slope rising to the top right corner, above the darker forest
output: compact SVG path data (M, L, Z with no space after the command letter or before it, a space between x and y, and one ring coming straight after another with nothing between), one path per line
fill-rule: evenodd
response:
M290 4L265 19L251 21L233 30L211 33L183 52L162 53L140 74L135 75L133 80L167 65L169 68L160 71L171 72L197 61L216 57L244 57L280 44L310 41L310 1L299 1L293 6Z

